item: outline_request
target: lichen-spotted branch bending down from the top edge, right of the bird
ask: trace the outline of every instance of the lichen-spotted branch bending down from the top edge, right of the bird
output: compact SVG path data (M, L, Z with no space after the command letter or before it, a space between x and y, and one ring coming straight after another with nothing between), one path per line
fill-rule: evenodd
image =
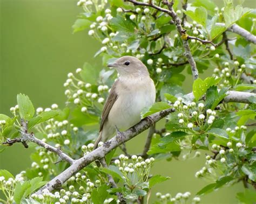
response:
M165 12L169 16L172 17L172 20L173 20L174 24L176 25L176 29L179 32L180 37L183 41L183 47L184 47L184 50L185 50L184 56L187 58L187 61L190 63L193 78L194 78L194 80L196 80L198 78L197 65L196 65L196 62L194 61L194 58L193 58L192 54L191 54L190 45L188 44L188 41L186 40L186 38L184 38L184 36L186 37L186 31L183 30L183 27L181 26L181 20L178 17L177 13L174 12L174 10L172 8L173 1L171 1L171 2L166 1L166 0L162 1L162 3L164 5L167 5L168 9L161 8L160 6L154 5L153 3L137 2L137 1L134 1L134 0L125 0L125 1L126 2L131 2L134 5L148 6L148 7L154 8L154 9L159 10L161 12Z

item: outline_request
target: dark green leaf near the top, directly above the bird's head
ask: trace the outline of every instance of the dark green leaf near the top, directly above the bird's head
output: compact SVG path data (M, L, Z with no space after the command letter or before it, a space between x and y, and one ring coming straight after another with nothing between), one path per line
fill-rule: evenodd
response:
M111 27L118 32L134 34L133 23L130 20L124 19L121 16L112 18L110 24Z

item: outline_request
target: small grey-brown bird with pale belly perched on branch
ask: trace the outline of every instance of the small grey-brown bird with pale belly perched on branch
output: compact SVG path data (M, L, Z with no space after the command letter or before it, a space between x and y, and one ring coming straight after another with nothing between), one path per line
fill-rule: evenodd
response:
M156 101L156 87L142 61L123 56L107 66L116 69L119 77L104 104L94 149L116 131L129 129L140 122L142 110Z

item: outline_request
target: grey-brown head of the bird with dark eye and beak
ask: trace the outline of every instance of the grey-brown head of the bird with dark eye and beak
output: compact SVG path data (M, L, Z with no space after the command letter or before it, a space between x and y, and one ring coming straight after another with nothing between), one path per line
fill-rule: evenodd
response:
M107 65L117 70L121 77L142 77L149 76L147 67L137 58L124 56L117 59L114 63Z

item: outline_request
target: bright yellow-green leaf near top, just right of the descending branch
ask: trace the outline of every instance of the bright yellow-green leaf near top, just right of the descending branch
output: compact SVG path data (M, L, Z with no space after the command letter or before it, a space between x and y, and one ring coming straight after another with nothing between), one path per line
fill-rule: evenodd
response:
M203 6L196 8L194 12L191 10L187 10L183 12L185 12L186 15L189 16L192 20L195 20L197 23L206 27L207 10Z

